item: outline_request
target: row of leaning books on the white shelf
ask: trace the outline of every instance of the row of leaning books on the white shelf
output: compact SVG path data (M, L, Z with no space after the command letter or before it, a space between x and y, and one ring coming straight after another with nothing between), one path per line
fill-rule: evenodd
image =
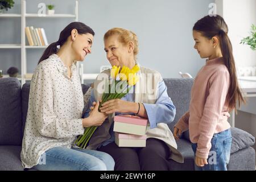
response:
M30 26L25 28L25 32L29 46L48 46L44 28Z

